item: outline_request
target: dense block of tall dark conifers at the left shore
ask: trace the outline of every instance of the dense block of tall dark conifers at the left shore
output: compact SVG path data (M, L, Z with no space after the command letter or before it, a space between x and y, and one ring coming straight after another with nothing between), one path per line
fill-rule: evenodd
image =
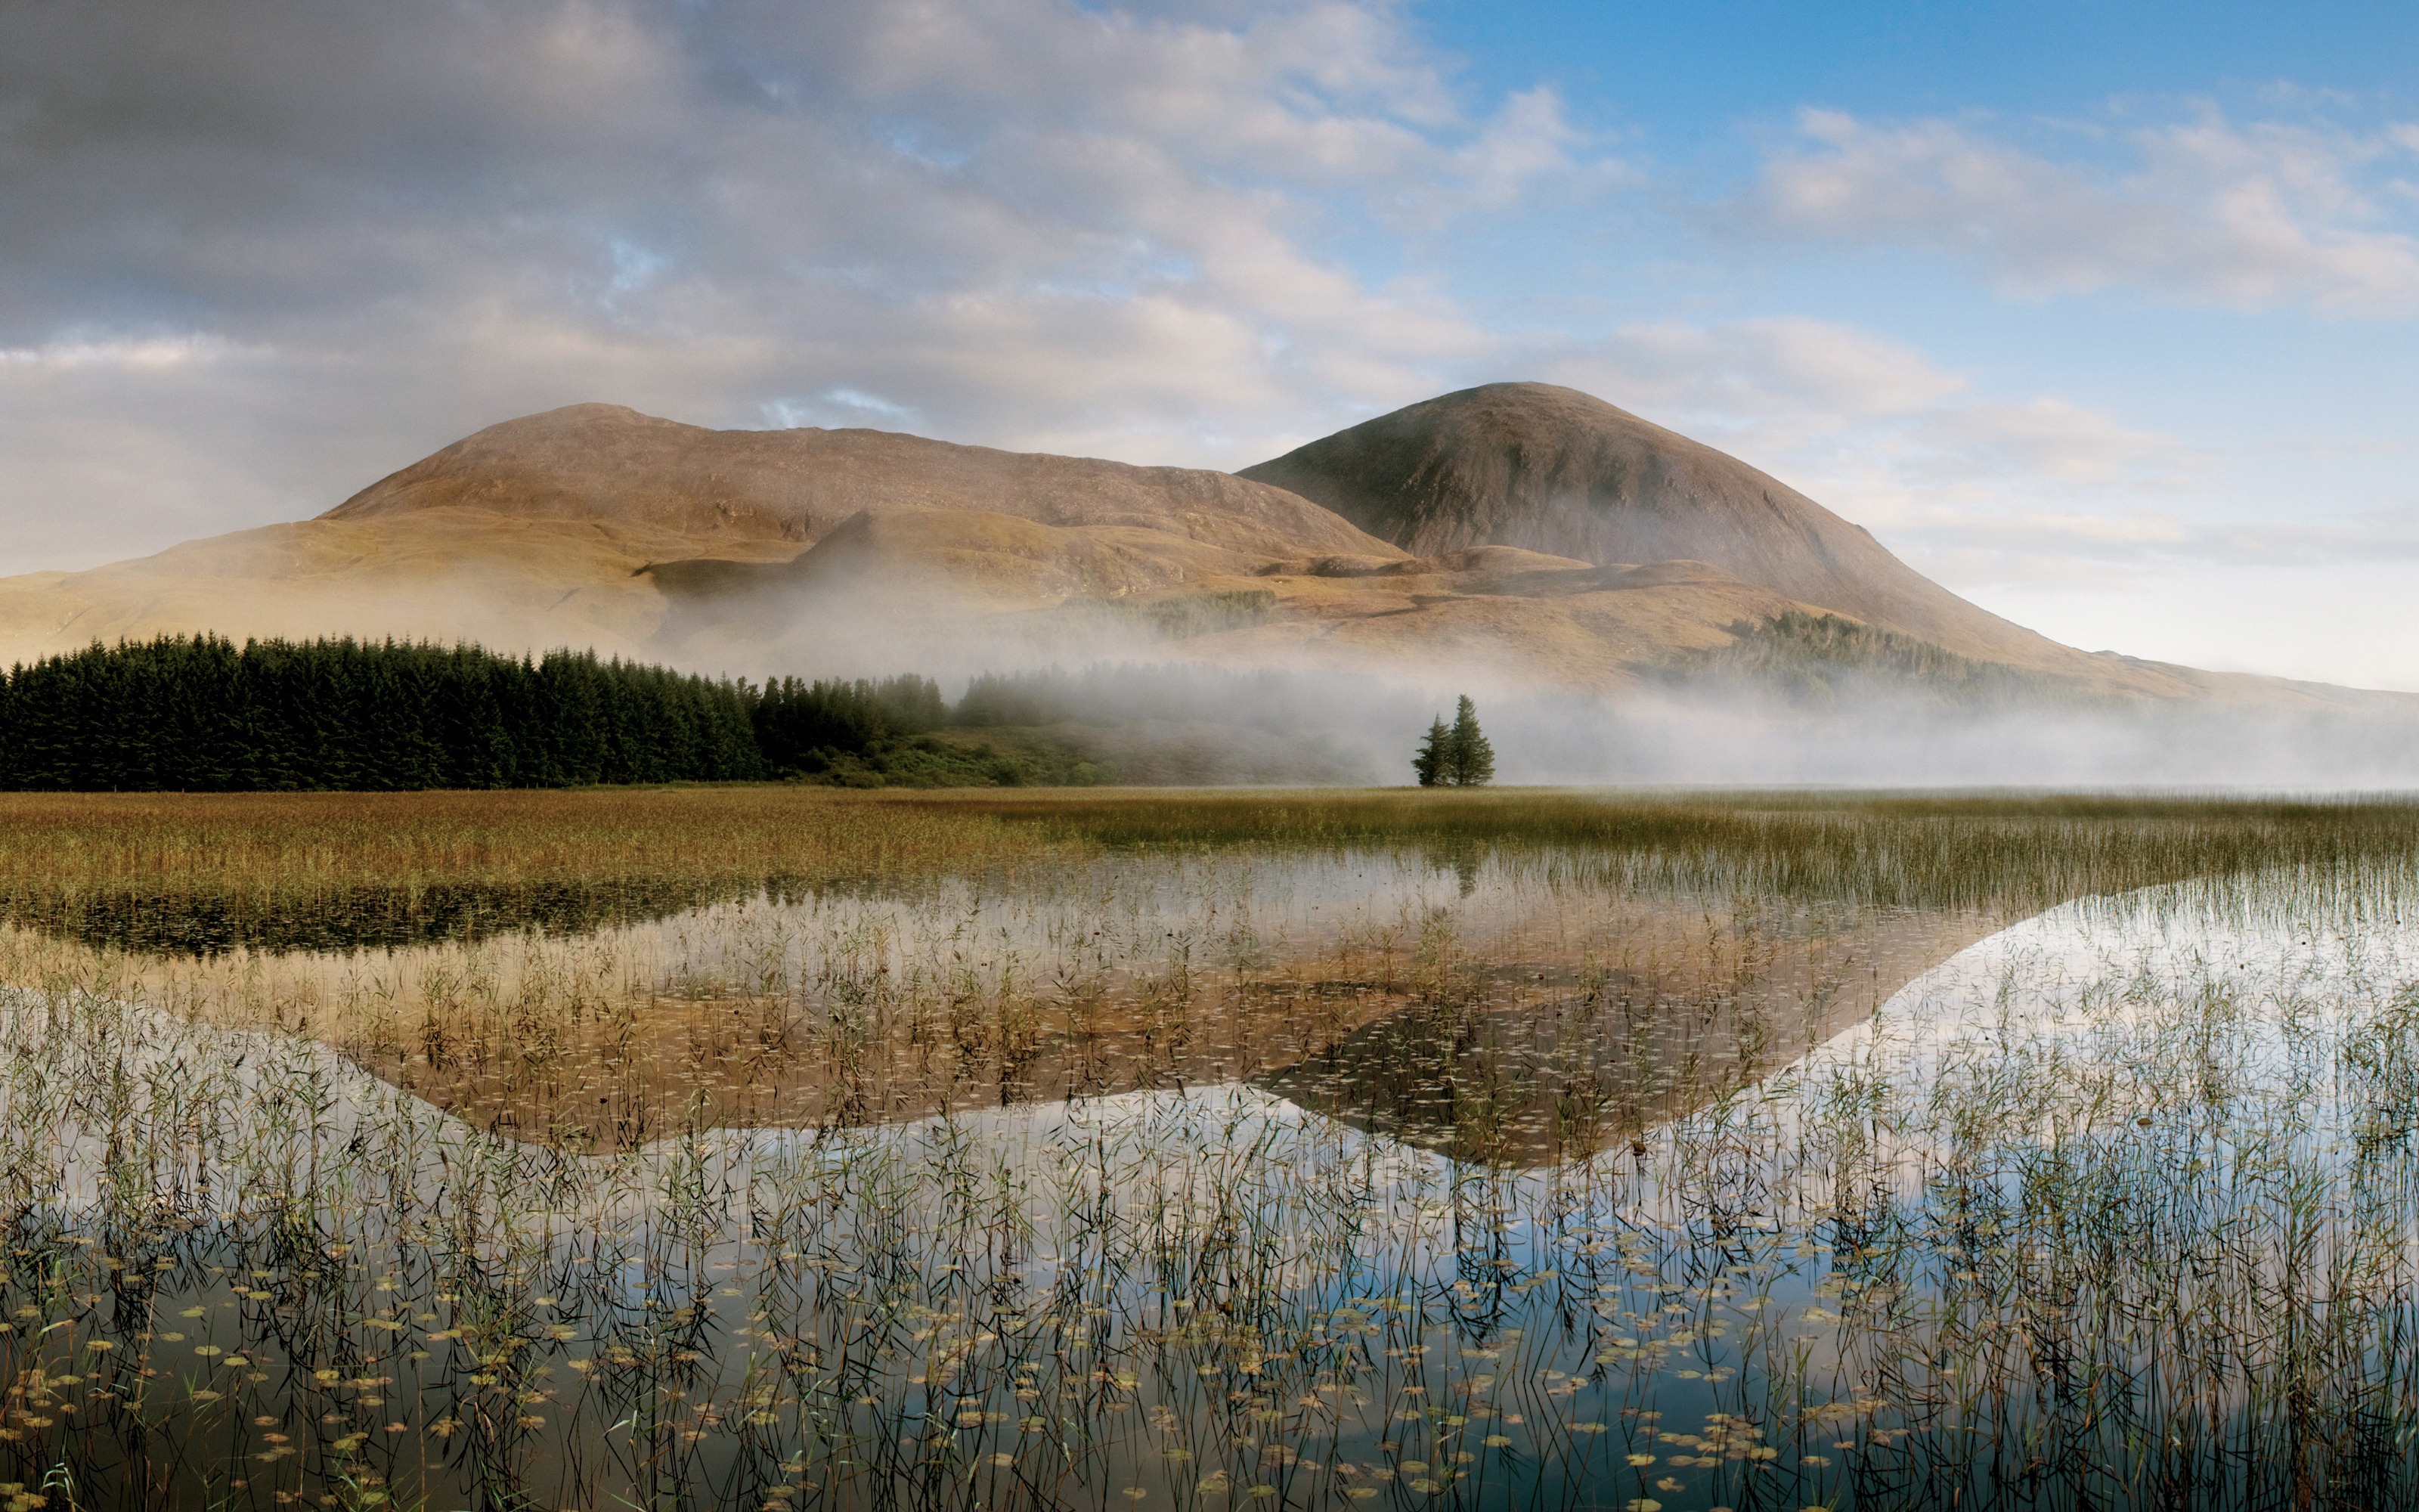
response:
M503 789L764 777L755 692L477 646L162 636L0 680L0 789Z

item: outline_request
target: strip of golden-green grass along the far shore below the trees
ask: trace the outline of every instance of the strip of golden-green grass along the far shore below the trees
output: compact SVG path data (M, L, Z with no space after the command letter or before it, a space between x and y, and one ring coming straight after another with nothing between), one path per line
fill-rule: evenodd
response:
M1551 847L1855 902L2042 902L2419 854L2407 798L1672 791L0 793L0 893L317 893L968 876L1103 849Z

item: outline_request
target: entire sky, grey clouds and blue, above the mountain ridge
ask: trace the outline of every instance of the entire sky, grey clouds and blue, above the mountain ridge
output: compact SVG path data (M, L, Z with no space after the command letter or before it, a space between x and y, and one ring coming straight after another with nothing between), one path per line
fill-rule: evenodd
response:
M619 402L1243 467L1551 380L2419 689L2419 7L0 0L0 573Z

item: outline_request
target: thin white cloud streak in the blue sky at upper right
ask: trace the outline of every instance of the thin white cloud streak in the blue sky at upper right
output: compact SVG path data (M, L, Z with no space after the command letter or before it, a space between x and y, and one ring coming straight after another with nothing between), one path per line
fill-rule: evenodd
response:
M1935 252L2017 295L2126 285L2235 310L2419 312L2404 123L2238 126L2204 109L2071 133L2051 157L1974 121L1805 111L1797 138L1725 208L1730 225Z

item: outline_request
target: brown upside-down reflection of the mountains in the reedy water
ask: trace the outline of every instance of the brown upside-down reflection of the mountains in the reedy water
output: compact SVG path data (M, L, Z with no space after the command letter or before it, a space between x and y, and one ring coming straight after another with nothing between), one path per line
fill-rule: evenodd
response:
M1703 1106L1986 934L1981 907L1638 885L1584 852L1103 856L917 888L102 895L106 989L307 1028L479 1127L631 1149L1248 1081L1541 1164ZM0 929L0 956L12 939ZM36 960L15 980L75 980ZM94 977L99 980L99 977Z

